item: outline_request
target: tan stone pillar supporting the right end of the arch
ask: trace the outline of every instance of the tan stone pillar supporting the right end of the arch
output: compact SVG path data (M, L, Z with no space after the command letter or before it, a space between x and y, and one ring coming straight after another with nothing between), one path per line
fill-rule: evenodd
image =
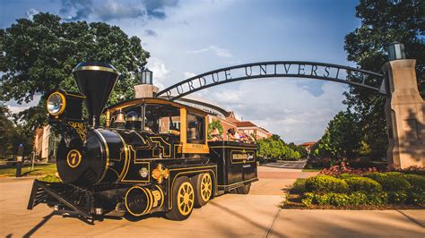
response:
M386 74L386 126L388 164L406 168L425 166L425 102L418 90L416 60L390 61Z

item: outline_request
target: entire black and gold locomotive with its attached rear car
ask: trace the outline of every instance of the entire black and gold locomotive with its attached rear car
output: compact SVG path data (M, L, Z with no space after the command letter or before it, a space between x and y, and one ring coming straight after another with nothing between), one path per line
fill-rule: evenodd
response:
M256 144L208 141L208 113L160 98L106 105L119 73L81 63L79 93L48 95L49 124L62 135L61 183L35 180L28 208L46 203L85 219L163 212L184 220L223 193L247 194L256 182ZM82 120L85 102L88 122Z

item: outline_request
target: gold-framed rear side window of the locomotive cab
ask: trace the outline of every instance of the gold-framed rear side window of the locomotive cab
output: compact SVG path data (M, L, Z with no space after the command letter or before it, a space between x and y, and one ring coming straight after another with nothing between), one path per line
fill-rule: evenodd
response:
M204 144L205 118L204 116L187 114L187 142Z

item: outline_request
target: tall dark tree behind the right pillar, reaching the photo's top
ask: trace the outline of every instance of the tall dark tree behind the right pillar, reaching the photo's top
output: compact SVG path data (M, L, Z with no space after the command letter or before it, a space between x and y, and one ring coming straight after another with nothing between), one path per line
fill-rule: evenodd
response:
M419 89L425 95L425 45L423 23L425 4L419 0L360 0L356 16L361 19L360 27L345 37L347 59L360 68L380 72L387 62L386 48L393 42L404 44L407 58L416 59ZM378 81L373 81L379 87ZM386 154L388 140L384 113L385 97L369 89L350 86L345 93L344 103L359 117L363 140L368 144L371 155Z

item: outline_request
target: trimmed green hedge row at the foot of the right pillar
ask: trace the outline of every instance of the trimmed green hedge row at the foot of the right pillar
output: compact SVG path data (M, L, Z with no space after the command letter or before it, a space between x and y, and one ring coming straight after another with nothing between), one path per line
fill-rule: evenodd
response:
M306 206L425 204L425 176L419 174L317 175L306 180L305 188Z

